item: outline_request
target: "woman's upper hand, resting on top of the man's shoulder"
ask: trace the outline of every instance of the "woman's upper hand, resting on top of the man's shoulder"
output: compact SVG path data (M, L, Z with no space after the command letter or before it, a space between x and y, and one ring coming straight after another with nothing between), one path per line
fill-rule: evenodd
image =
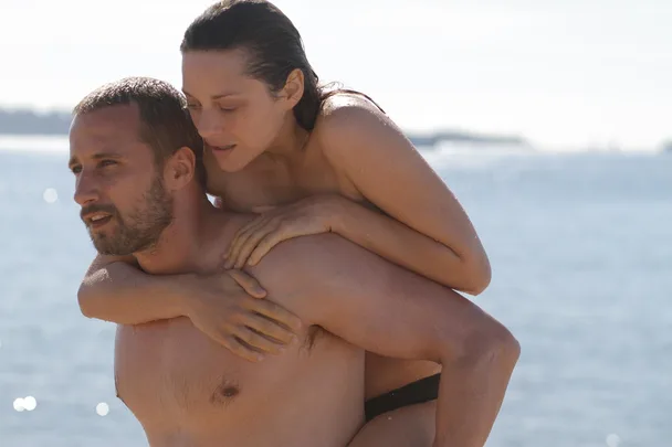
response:
M224 255L224 268L256 265L282 241L333 231L345 202L340 195L313 195L280 207L255 209L261 214L237 232Z

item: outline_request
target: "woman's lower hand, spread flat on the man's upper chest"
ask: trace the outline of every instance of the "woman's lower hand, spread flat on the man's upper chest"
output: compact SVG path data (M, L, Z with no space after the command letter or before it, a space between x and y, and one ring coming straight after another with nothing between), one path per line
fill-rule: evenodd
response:
M263 299L266 291L245 273L228 270L192 278L187 317L234 354L255 362L266 353L281 353L296 339L301 319Z

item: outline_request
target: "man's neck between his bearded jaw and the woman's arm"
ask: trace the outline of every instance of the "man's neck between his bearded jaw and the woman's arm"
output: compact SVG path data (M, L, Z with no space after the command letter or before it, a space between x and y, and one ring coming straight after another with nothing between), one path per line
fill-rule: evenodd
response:
M217 213L206 195L202 200L176 201L174 220L157 243L135 257L148 274L171 275L196 268L202 244L207 242L207 223Z

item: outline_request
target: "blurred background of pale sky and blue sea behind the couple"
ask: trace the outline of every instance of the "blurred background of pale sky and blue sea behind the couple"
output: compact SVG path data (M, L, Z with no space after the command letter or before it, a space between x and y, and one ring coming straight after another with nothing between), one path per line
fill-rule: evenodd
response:
M70 108L130 75L181 86L211 1L2 0L0 445L144 446L114 326L81 316L94 256ZM474 299L523 354L489 447L672 445L672 2L275 2L321 79L370 95L472 217Z

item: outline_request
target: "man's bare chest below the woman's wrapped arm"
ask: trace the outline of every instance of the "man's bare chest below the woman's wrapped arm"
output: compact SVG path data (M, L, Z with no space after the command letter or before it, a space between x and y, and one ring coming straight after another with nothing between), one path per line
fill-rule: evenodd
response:
M219 267L222 245L207 246L183 273ZM252 363L187 318L119 326L115 377L151 446L342 447L363 421L364 351L315 327Z

